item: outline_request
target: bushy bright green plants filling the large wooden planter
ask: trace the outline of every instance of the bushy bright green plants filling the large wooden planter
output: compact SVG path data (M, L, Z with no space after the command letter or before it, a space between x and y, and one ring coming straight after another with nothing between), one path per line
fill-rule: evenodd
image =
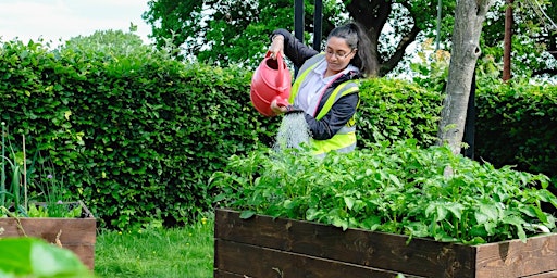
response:
M416 140L323 160L297 149L255 151L233 156L211 185L221 191L218 204L243 218L263 214L466 244L556 229L542 208L557 207L547 176L496 169Z

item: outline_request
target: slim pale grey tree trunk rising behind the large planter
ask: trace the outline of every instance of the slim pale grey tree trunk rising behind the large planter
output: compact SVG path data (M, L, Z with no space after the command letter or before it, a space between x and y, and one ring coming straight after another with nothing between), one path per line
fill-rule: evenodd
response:
M443 101L438 130L438 143L448 144L455 154L461 150L472 77L481 53L480 35L493 1L460 0L455 10L447 96Z

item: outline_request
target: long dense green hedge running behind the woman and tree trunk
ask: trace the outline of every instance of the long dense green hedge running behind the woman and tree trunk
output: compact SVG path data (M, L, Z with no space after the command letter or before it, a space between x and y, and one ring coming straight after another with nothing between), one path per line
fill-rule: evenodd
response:
M10 139L21 142L25 135L27 153L44 155L36 163L53 172L36 167L34 174L47 182L45 189L63 181L71 192L65 200L83 200L101 227L115 229L181 225L210 210L216 190L207 185L210 176L231 155L271 147L281 121L252 108L251 73L245 68L183 63L136 42L135 36L109 31L74 38L53 51L21 41L0 48L0 117L10 126ZM409 138L431 146L445 62L416 64L420 75L413 81L362 80L358 148ZM555 177L557 143L543 124L554 122L555 87L506 88L496 79L479 78L475 156L496 167L518 165ZM21 146L14 150L21 156ZM44 177L53 173L53 179Z

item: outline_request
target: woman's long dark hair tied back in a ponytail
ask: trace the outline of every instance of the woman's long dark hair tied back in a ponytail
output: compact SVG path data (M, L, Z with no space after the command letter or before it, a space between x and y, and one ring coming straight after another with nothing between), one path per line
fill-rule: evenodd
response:
M326 39L329 40L331 37L345 39L351 49L357 49L350 63L358 67L364 76L377 75L377 65L371 55L371 40L361 24L351 22L338 26L329 34Z

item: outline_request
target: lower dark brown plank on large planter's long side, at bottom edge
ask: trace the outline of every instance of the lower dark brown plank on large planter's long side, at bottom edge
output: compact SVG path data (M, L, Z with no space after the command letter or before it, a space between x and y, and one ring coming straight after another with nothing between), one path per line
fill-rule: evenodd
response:
M397 273L275 249L216 240L215 269L244 277L394 278ZM234 277L234 276L227 276ZM408 278L418 276L405 275Z

